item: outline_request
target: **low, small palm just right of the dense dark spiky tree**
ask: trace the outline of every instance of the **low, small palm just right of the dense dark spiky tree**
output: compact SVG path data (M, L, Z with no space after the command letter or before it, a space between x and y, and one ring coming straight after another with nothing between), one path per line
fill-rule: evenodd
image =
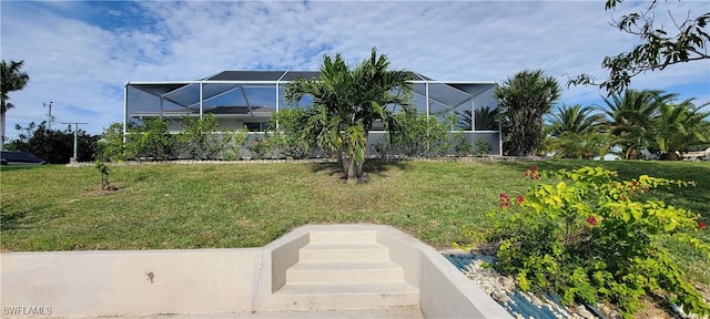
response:
M559 158L591 158L604 156L609 150L608 136L599 132L604 115L594 114L595 107L562 105L548 117L545 127L547 151Z

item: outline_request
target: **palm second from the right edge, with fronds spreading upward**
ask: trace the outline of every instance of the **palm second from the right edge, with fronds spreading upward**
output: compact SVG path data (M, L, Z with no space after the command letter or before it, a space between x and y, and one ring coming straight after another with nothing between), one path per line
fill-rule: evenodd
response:
M625 160L636 158L641 148L652 140L652 119L658 107L672 100L673 94L656 90L627 90L623 95L611 93L604 99L605 107L599 109L608 119L602 125L605 132L613 136L613 144L621 148Z

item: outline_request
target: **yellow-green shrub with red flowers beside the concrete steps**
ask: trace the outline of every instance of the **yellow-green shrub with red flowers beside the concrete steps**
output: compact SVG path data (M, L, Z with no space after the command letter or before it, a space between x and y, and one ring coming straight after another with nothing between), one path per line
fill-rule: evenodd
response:
M499 244L495 267L515 276L523 290L555 290L566 303L604 299L625 317L640 307L639 297L665 291L686 311L710 313L667 249L656 244L673 236L710 258L710 247L692 236L706 231L706 223L660 200L635 200L652 188L693 182L648 175L617 181L616 172L601 167L539 172L534 166L525 176L534 186L515 200L500 193L487 238Z

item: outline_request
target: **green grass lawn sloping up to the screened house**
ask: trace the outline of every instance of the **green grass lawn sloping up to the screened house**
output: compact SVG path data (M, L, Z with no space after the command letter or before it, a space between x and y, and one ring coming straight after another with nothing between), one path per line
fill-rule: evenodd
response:
M334 164L236 163L112 167L118 192L98 195L94 167L0 171L1 249L168 249L255 247L305 224L372 223L437 248L462 240L464 225L486 226L498 194L520 194L530 162L369 164L368 182L343 184ZM540 169L601 165L621 178L642 174L698 182L655 191L657 198L710 222L710 163L546 161ZM710 231L701 239L710 241ZM696 281L710 260L665 243Z

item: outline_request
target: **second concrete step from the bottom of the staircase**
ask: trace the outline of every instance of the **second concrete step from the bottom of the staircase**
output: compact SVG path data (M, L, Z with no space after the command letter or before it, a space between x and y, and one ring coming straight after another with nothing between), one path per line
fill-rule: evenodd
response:
M286 270L288 284L402 282L404 270L389 260L298 263Z

